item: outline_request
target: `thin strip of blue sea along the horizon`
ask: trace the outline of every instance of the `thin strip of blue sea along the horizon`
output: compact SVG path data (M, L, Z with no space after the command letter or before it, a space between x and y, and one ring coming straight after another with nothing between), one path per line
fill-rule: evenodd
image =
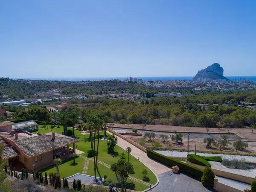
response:
M30 79L30 80L48 80L48 81L104 81L104 80L113 80L119 79L123 81L129 77L96 77L96 78L73 78L73 77L60 77L60 78L12 78L12 79ZM192 80L192 76L183 76L183 77L132 77L137 79L142 79L143 81L173 81L173 80ZM227 76L227 79L230 80L244 80L250 79L256 83L256 76Z

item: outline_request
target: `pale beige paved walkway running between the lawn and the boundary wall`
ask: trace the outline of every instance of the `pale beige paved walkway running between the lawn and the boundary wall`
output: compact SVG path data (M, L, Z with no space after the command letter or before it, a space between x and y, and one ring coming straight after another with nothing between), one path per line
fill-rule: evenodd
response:
M108 133L111 134L110 132L108 132ZM117 145L119 147L123 148L124 150L126 150L127 147L130 147L131 155L133 155L135 158L139 157L140 162L142 162L145 166L147 166L149 169L151 169L151 171L153 171L154 174L159 175L161 173L168 172L168 171L172 170L171 168L169 168L161 163L151 160L150 158L148 158L148 156L145 152L141 151L140 149L138 149L131 143L128 143L127 141L123 140L122 138L120 138L118 136L116 136L116 137L117 137Z

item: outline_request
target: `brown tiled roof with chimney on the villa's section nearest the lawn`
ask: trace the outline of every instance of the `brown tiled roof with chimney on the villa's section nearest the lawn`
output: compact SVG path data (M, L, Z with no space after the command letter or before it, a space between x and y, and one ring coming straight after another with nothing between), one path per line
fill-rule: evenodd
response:
M27 157L33 157L78 141L72 137L55 133L55 140L52 140L52 134L41 134L24 140L18 140L15 144Z

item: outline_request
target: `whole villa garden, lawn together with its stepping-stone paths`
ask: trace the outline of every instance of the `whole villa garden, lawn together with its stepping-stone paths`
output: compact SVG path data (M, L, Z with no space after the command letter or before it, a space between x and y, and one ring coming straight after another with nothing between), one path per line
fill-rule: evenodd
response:
M51 128L39 125L39 133L47 133L50 131L55 131L58 134L63 132L63 126L57 126L58 128ZM67 130L72 130L71 127L68 127ZM74 175L76 173L84 173L86 175L94 175L94 164L93 158L87 157L87 151L91 149L91 138L90 134L82 134L81 131L75 129L75 137L79 140L76 143L76 149L83 151L84 153L79 155L78 157L72 157L68 160L65 160L59 165L59 175L60 177L68 177ZM115 145L113 150L109 150L108 140L102 140L104 138L104 132L99 132L99 152L98 152L98 170L99 173L96 172L97 177L104 177L105 185L108 184L108 181L117 182L115 172L111 171L110 166L114 163L117 163L119 160L125 159L133 166L133 171L129 172L129 177L127 179L128 188L138 191L143 191L153 186L157 182L157 178L155 175L139 160L133 157L131 154L128 154L127 151L120 148L118 145ZM97 137L96 137L97 138ZM97 139L96 139L97 145ZM129 157L128 157L129 155ZM74 163L75 161L75 163ZM86 163L87 162L87 163ZM87 164L86 172L84 168ZM41 170L41 172L55 173L56 167L55 165L49 166L47 169ZM146 175L145 175L146 173Z

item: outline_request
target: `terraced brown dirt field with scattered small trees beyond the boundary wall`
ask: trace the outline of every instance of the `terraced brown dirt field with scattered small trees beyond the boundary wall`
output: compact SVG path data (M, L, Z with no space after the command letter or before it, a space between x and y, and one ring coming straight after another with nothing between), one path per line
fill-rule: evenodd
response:
M209 128L209 132L207 133L206 128L199 128L199 127L180 127L180 126L166 126L166 125L146 125L144 128L142 128L141 125L122 125L122 124L112 124L111 127L115 127L115 128L137 128L137 129L143 129L145 131L149 131L149 130L154 130L156 131L169 131L169 132L183 132L183 142L182 144L177 144L175 142L173 142L170 137L169 139L163 143L163 140L161 140L158 137L155 137L154 140L152 141L159 141L162 145L162 147L166 147L166 148L174 148L174 149L185 149L187 150L188 148L188 138L186 133L206 133L206 134L210 134L210 133L219 133L219 134L227 134L227 129L221 129L219 130L218 128ZM130 132L130 130L127 129L128 132ZM118 132L118 131L117 131ZM138 132L140 132L140 130L138 130ZM256 132L256 131L255 131ZM239 137L241 137L242 139L255 139L256 140L256 134L251 132L251 130L249 128L234 128L234 129L230 129L229 133L234 133L236 135L238 135ZM141 139L143 139L142 136L129 136L129 135L125 135L125 137L128 137L129 139L133 140L136 143L139 143ZM238 137L238 138L239 138ZM148 139L147 139L148 140ZM233 147L233 142L234 141L230 141L230 144L228 145L227 148L222 149L222 151L227 151L227 152L235 152L235 148ZM239 151L241 153L256 153L256 142L247 142L249 147L246 148L245 151ZM195 150L195 145L196 145L196 149L200 150L200 151L219 151L218 147L214 147L212 146L212 148L206 148L206 143L203 142L203 138L190 138L189 140L189 150L190 151L194 151ZM146 143L145 146L151 146L151 142L148 141L148 143Z

